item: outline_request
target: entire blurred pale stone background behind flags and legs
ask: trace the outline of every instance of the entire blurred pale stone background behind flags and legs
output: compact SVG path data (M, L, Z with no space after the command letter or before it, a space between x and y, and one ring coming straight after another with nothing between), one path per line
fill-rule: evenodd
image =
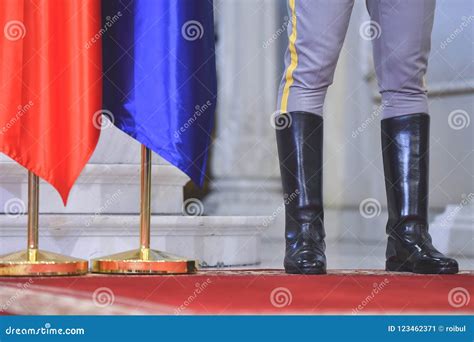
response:
M152 245L203 267L281 268L284 208L275 132L287 46L285 0L215 0L218 108L203 189L154 155ZM380 110L365 1L356 0L325 108L328 267L385 262ZM430 230L474 269L474 3L438 0L427 85ZM93 258L137 247L140 146L103 123L69 204L41 185L40 246ZM26 246L27 172L0 156L0 253Z

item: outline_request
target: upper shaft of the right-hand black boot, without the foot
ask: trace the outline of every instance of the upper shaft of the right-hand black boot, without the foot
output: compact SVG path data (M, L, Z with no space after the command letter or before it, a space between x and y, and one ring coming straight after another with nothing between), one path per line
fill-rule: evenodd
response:
M429 178L428 114L384 119L382 154L389 220L387 233L428 224Z

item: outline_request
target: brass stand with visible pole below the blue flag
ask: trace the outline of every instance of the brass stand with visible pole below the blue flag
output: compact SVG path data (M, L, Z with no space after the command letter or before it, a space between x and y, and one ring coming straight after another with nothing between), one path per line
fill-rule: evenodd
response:
M186 274L197 270L195 260L150 249L151 150L142 145L140 248L92 260L94 273Z

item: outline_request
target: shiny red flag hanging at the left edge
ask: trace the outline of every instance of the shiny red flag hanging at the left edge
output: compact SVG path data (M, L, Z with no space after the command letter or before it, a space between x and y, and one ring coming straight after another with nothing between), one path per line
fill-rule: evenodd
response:
M0 152L66 204L97 144L99 0L0 1Z

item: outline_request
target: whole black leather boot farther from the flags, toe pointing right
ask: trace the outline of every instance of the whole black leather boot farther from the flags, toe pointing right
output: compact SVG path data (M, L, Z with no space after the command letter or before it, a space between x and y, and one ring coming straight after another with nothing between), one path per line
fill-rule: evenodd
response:
M433 247L428 233L430 117L410 114L382 120L387 191L387 271L458 272L456 260Z

